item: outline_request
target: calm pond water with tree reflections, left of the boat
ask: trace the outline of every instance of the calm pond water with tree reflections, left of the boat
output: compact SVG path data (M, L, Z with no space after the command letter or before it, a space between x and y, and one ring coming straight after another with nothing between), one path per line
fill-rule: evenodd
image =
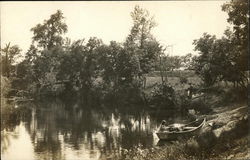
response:
M157 144L154 132L169 115L163 109L85 107L60 100L7 107L11 112L2 111L3 160L98 160L138 145L149 148Z

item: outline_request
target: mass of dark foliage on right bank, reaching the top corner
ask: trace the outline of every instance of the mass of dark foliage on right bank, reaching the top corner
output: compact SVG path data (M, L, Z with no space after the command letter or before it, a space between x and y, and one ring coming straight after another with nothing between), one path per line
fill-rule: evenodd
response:
M230 1L222 6L222 10L228 13L228 22L233 24L233 31L225 30L221 39L204 33L203 37L194 40L195 50L199 51L199 56L194 57L194 70L207 86L224 80L246 87L248 2Z

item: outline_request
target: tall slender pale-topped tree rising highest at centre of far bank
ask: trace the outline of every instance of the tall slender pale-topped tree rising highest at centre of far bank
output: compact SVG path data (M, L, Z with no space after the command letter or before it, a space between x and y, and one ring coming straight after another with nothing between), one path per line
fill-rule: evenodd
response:
M131 12L133 26L124 44L137 65L137 75L148 73L154 66L154 61L161 53L162 47L154 39L151 30L156 26L154 18L145 9L135 6Z

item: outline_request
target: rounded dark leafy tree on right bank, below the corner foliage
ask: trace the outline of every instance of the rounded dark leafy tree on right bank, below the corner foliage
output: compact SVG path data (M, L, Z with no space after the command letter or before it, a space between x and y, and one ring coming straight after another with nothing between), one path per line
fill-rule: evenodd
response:
M193 58L193 67L207 86L223 80L244 86L244 72L237 65L239 50L230 30L226 30L221 39L205 33L193 44L199 51L199 56Z

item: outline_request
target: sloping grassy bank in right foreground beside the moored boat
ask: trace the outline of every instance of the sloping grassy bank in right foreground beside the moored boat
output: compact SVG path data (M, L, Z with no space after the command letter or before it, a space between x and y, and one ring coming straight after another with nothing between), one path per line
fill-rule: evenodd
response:
M141 146L121 156L107 159L118 160L201 160L201 159L250 159L249 114L246 102L214 104L206 116L202 133L184 141L165 143L150 149Z

